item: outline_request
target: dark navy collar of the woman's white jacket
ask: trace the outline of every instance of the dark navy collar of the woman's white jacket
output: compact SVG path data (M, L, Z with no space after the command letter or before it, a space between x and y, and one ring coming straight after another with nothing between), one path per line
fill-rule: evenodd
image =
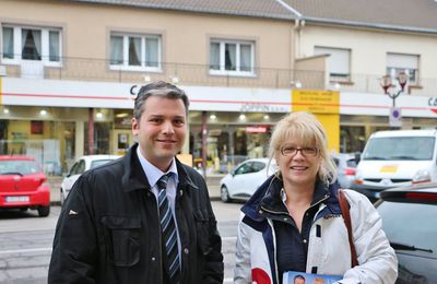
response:
M287 214L286 208L281 198L283 188L282 179L275 175L269 177L253 196L241 208L241 211L253 221L264 221L264 214L260 214L261 208L271 212L280 212ZM336 192L339 190L338 182L333 182L327 187L318 180L316 182L315 196L311 204L322 202L326 206L317 214L317 218L331 214L341 214Z

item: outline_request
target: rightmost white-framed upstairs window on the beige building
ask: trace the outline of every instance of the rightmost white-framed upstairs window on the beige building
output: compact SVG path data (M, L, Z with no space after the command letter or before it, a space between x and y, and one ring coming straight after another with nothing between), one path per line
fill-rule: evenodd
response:
M212 40L210 45L210 73L253 75L255 43Z

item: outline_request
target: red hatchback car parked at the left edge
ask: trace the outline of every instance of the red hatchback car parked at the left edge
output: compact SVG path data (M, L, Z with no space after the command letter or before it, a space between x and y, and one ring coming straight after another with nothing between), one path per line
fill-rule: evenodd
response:
M50 214L50 188L40 165L28 156L0 156L0 210L37 210Z

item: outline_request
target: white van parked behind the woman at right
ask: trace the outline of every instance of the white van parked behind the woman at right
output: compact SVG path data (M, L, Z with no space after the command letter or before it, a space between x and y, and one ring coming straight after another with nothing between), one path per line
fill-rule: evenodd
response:
M352 188L370 200L387 188L437 180L437 130L375 132L368 139Z

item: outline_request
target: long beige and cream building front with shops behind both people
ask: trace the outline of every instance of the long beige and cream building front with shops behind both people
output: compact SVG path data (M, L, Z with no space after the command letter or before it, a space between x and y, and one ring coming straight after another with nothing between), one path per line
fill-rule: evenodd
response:
M264 156L274 123L300 109L333 151L361 151L390 128L386 73L411 74L402 128L435 123L437 27L324 23L300 2L1 0L1 154L33 155L54 175L84 154L123 154L132 98L156 80L189 95L182 152L210 173Z

